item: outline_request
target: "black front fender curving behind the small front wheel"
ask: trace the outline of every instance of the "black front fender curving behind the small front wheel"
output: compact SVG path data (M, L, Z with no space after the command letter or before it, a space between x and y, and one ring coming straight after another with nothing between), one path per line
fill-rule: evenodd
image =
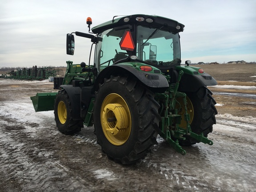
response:
M60 87L63 88L68 93L68 97L71 102L71 108L72 108L71 113L72 113L73 120L80 120L81 119L81 116L80 116L81 88L73 87L72 85L61 85Z

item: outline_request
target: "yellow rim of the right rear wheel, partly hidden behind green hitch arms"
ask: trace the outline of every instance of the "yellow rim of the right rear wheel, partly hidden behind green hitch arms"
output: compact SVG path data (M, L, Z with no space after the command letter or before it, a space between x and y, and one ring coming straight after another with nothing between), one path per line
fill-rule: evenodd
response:
M194 108L193 108L193 105L192 105L192 102L191 100L188 98L188 96L186 97L186 100L187 100L187 112L189 114L189 117L190 117L190 121L188 121L190 124L194 118ZM184 102L183 102L183 98L182 97L178 97L177 98L177 101L180 103L180 104L176 104L176 108L178 108L178 114L181 115L181 122L180 122L180 127L181 128L186 128L186 125L187 125L187 122L185 121L185 117L184 117L184 114L185 114L185 107L184 107Z

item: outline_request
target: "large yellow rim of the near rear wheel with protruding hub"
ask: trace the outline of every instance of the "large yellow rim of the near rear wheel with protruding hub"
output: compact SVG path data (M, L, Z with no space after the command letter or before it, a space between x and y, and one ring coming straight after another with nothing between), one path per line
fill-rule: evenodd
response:
M132 118L124 99L111 93L104 99L100 110L101 127L108 141L116 146L124 144L131 133Z

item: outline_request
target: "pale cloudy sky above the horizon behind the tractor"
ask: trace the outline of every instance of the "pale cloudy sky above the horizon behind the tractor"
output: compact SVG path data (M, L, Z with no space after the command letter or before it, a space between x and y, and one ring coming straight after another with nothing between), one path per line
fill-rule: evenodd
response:
M66 55L66 34L88 32L116 15L148 14L185 25L181 59L192 63L256 61L256 0L0 0L0 68L88 63L90 40L75 37Z

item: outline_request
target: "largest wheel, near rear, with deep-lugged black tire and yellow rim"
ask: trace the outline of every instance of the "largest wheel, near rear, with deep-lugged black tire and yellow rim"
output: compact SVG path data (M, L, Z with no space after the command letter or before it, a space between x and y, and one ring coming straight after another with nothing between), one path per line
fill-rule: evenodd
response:
M154 144L157 144L156 128L160 122L157 110L160 105L154 100L153 95L136 79L124 76L111 76L110 79L105 79L104 83L100 84L96 92L93 119L97 143L109 159L121 164L136 163L151 152ZM122 135L118 133L120 135L112 136L106 129L111 126L116 127L120 119L105 125L104 114L107 114L107 110L104 110L109 105L116 104L121 104L121 108L125 108L127 122L124 120L124 123L128 124L122 129L124 132ZM112 112L108 113L110 117L119 118L111 115L114 111L108 112Z

